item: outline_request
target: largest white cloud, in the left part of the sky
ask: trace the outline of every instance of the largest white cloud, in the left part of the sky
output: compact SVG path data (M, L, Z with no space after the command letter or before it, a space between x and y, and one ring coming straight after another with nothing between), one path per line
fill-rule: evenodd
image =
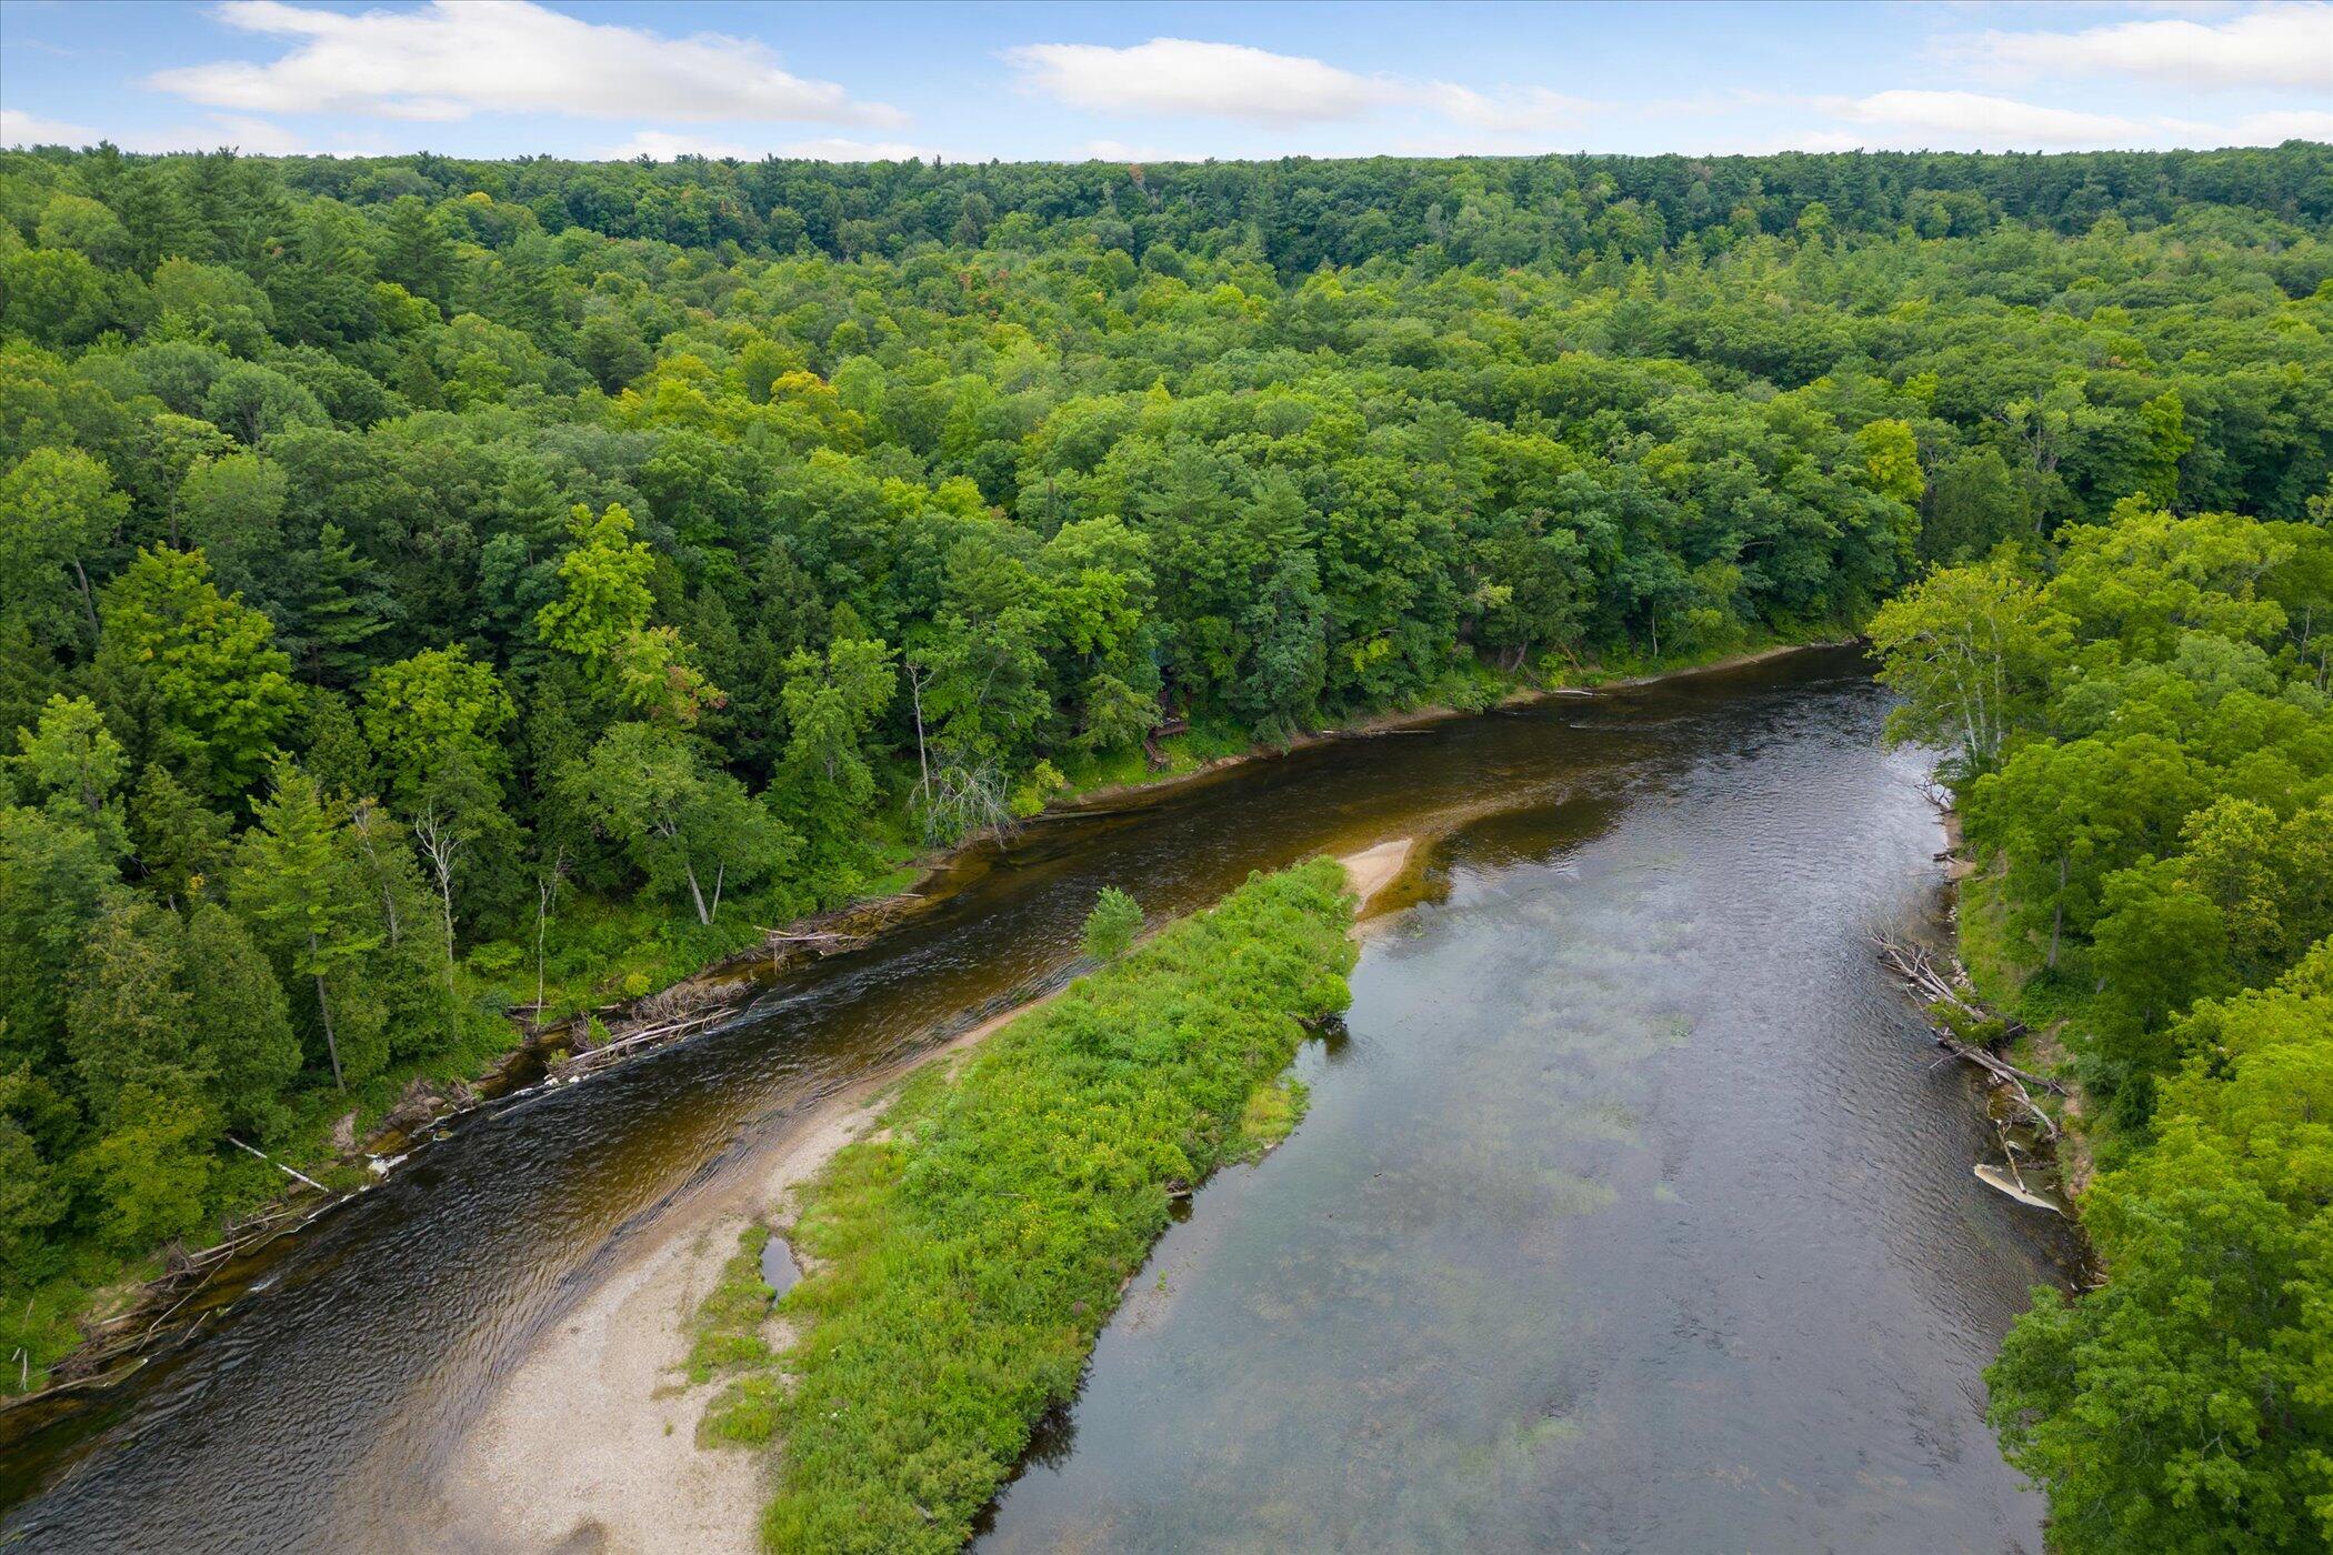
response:
M777 56L747 37L658 37L579 21L530 0L432 0L413 12L362 14L224 0L212 16L296 44L266 63L161 70L147 77L152 86L264 114L467 119L485 110L588 119L903 121L898 110L779 70Z

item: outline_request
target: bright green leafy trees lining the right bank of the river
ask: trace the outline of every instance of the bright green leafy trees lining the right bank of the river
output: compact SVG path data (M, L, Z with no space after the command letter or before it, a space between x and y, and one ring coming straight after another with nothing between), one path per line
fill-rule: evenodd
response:
M1878 613L1950 746L1962 951L2053 1033L2102 1289L1988 1373L2051 1543L2333 1543L2333 532L2146 497ZM2006 1035L1999 1030L1995 1035Z

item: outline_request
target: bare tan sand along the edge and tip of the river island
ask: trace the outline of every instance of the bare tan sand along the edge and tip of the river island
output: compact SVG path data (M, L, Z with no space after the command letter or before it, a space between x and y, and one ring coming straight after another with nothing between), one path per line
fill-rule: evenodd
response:
M1339 860L1358 921L1414 863L1411 839ZM1062 991L994 1014L908 1065L821 1098L726 1184L677 1205L497 1387L408 1548L756 1550L772 1455L700 1445L714 1387L684 1387L698 1310L747 1226L791 1226L800 1194L868 1138L898 1089L959 1063ZM800 1257L800 1254L796 1254ZM772 1315L763 1343L791 1343Z

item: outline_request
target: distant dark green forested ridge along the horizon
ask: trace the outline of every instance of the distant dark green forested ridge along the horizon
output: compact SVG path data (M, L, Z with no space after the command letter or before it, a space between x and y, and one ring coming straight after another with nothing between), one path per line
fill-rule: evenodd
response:
M191 154L96 156L131 163ZM2076 235L2104 214L2160 224L2230 205L2296 224L2333 217L2324 142L2191 152L1775 152L1764 156L1358 156L1208 161L861 161L681 154L278 156L285 184L348 205L488 194L541 231L742 254L898 256L915 245L1090 235L1136 259L1153 242L1248 242L1283 275L1437 245L1456 263L1649 256L1689 240L1717 254L1794 233L1810 205L1841 233L1981 235L2025 224ZM1528 212L1528 214L1526 214ZM1453 226L1453 219L1467 219ZM1516 217L1523 217L1519 224Z

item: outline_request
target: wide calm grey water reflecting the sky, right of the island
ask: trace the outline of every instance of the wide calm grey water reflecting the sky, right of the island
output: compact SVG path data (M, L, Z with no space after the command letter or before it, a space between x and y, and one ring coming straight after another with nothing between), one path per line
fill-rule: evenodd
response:
M1871 963L1936 846L1878 713L1750 697L1449 837L982 1548L2037 1548L1978 1371L2053 1233Z

